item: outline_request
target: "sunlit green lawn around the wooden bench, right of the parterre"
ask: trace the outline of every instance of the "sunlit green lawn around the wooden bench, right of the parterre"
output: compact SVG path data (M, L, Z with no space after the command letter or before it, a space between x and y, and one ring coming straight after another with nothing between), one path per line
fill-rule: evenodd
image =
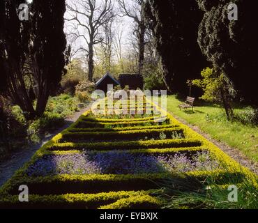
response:
M247 155L251 160L258 161L258 127L244 125L239 121L229 122L225 118L224 110L220 107L204 104L196 106L195 112L191 109L188 112L180 111L180 100L175 95L167 98L167 110L175 116L183 118L192 125L196 125L203 132L211 135L213 139L225 142L227 145L237 148ZM234 109L238 114L244 108Z

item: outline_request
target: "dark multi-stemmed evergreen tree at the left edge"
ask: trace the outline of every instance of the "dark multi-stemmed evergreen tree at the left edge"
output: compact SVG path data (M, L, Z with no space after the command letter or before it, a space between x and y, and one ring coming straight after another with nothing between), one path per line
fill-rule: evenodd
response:
M26 118L41 116L50 91L61 81L65 65L66 36L63 33L65 0L33 0L29 20L20 21L22 0L0 2L0 68L2 95L20 105ZM31 72L36 109L29 96L25 70Z

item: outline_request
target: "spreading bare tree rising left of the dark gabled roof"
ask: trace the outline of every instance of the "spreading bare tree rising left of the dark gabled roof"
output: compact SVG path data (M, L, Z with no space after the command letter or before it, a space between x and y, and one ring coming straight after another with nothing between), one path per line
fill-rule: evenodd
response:
M75 53L79 51L86 52L89 67L88 79L93 81L93 47L103 42L100 36L100 28L114 18L113 0L79 0L69 1L66 4L68 8L67 21L72 22L72 31L70 35L74 37L74 42L82 39L86 42L85 46L77 47Z

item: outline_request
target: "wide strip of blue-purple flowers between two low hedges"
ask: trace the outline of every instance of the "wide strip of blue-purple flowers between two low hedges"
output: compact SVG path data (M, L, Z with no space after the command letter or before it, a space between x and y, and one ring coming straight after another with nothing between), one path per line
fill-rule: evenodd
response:
M158 174L164 172L218 169L219 164L208 151L190 157L185 153L143 154L108 151L106 153L74 153L44 155L27 170L28 176L57 174Z

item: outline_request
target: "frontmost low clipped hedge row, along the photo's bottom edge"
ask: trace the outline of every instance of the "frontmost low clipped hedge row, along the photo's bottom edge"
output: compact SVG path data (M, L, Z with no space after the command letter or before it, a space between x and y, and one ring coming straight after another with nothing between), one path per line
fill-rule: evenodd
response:
M37 195L31 194L29 202L20 202L17 195L1 197L0 208L86 208L96 209L102 208L101 206L112 205L121 199L128 199L130 197L142 197L158 190L147 191L119 191L119 192L102 192L98 194L50 194L50 195Z

